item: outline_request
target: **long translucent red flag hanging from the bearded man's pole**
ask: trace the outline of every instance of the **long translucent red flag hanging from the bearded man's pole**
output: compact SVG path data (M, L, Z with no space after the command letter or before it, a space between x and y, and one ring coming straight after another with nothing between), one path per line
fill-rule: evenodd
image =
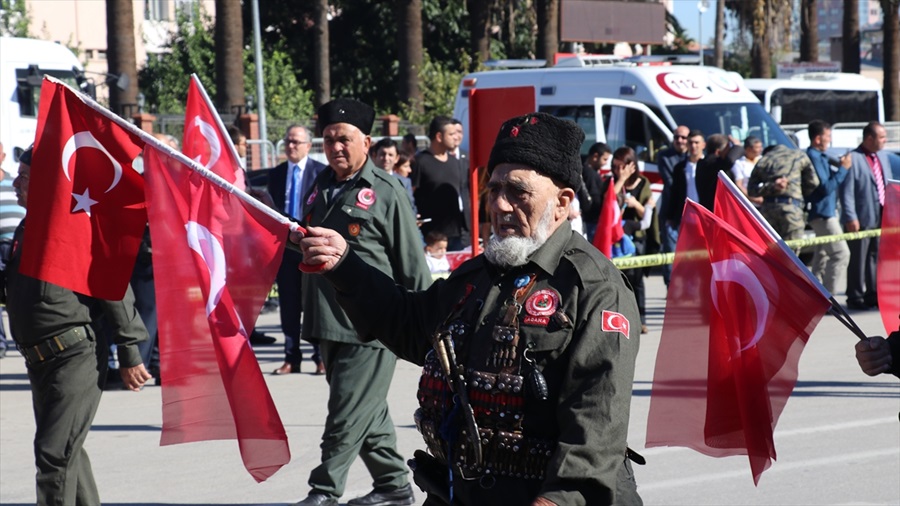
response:
M288 226L155 148L144 152L163 378L161 444L237 439L264 481L290 461L250 347Z

